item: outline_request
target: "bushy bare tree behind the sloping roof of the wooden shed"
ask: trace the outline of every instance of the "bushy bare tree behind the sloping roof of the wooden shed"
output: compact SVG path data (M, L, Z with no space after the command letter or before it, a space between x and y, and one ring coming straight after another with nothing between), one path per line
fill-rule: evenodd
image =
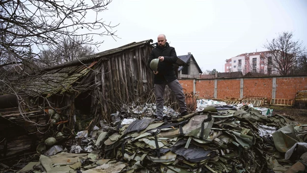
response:
M82 37L63 37L60 47L43 50L40 59L43 67L50 67L56 64L69 62L77 58L83 58L95 53L91 45L82 44Z

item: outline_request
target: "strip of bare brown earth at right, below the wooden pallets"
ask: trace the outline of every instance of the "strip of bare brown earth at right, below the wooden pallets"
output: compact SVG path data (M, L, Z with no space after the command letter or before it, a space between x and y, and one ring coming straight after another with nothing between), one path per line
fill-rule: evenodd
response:
M273 114L289 116L301 124L307 124L307 109L297 109L290 106L266 106L273 109Z

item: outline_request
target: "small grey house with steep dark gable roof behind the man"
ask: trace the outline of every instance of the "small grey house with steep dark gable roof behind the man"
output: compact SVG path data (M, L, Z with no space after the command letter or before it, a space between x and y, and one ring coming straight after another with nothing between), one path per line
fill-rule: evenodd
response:
M191 52L188 55L177 56L183 62L185 62L186 66L180 66L178 68L178 78L199 78L199 75L202 73L199 65L197 64L194 56Z

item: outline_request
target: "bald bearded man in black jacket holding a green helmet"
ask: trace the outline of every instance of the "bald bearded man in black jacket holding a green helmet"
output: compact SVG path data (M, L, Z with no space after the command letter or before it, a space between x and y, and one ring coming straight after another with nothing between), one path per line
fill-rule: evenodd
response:
M154 58L159 58L158 70L153 71L150 68L150 62ZM175 48L170 47L167 43L167 38L164 34L158 35L158 43L154 48L147 62L147 66L154 72L154 84L156 95L156 115L157 119L163 119L163 107L164 107L164 92L166 85L175 94L179 106L181 116L187 115L187 105L185 102L185 96L183 89L177 80L173 64L177 61L177 55Z

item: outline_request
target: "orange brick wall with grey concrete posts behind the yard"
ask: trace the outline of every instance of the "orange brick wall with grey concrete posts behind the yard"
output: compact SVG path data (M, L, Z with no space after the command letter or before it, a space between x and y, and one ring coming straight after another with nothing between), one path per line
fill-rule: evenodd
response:
M276 85L274 85L276 81ZM246 77L232 79L180 79L184 92L195 93L203 98L267 97L295 99L298 90L307 90L307 76ZM215 91L215 82L217 88ZM243 88L242 83L243 82Z

